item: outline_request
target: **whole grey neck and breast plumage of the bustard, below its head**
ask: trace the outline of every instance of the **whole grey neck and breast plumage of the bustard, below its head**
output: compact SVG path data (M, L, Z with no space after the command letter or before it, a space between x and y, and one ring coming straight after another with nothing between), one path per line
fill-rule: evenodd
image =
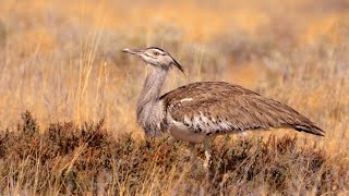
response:
M156 136L164 119L164 109L159 101L163 84L168 70L149 65L149 72L143 85L137 102L137 122L143 126L146 135Z

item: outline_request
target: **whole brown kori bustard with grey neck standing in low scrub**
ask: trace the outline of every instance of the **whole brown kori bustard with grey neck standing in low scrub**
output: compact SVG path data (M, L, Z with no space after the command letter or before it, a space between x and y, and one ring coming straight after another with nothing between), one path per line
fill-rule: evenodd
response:
M169 70L177 68L183 72L183 68L160 48L122 51L149 64L136 109L137 122L145 134L157 136L167 132L176 139L189 142L191 161L196 158L195 144L203 143L205 168L210 159L209 142L217 135L279 127L324 134L292 108L229 83L192 83L160 96Z

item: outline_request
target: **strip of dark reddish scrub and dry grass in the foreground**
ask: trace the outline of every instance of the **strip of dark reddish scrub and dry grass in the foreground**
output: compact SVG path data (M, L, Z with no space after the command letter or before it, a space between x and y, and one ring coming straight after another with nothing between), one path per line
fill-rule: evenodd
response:
M212 179L191 172L186 144L167 137L118 138L104 121L57 123L39 133L31 113L16 132L1 132L0 192L7 195L338 194L349 189L349 164L297 137L221 139L213 146ZM198 156L204 152L198 148ZM202 164L202 161L198 161Z

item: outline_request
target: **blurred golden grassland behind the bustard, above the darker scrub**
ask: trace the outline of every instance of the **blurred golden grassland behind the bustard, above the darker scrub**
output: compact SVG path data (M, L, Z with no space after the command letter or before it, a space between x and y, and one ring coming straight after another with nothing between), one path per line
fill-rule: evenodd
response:
M41 126L97 121L132 132L146 68L121 49L157 46L185 69L165 91L226 81L273 97L349 147L347 0L3 0L0 130L25 110ZM316 139L315 137L312 137Z

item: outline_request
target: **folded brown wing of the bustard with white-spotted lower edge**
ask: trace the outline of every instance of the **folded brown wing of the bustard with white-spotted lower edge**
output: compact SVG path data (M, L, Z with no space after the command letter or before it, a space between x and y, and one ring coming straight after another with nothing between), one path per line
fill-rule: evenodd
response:
M165 94L160 100L171 121L197 133L272 127L291 127L315 135L324 133L292 108L228 83L189 84Z

